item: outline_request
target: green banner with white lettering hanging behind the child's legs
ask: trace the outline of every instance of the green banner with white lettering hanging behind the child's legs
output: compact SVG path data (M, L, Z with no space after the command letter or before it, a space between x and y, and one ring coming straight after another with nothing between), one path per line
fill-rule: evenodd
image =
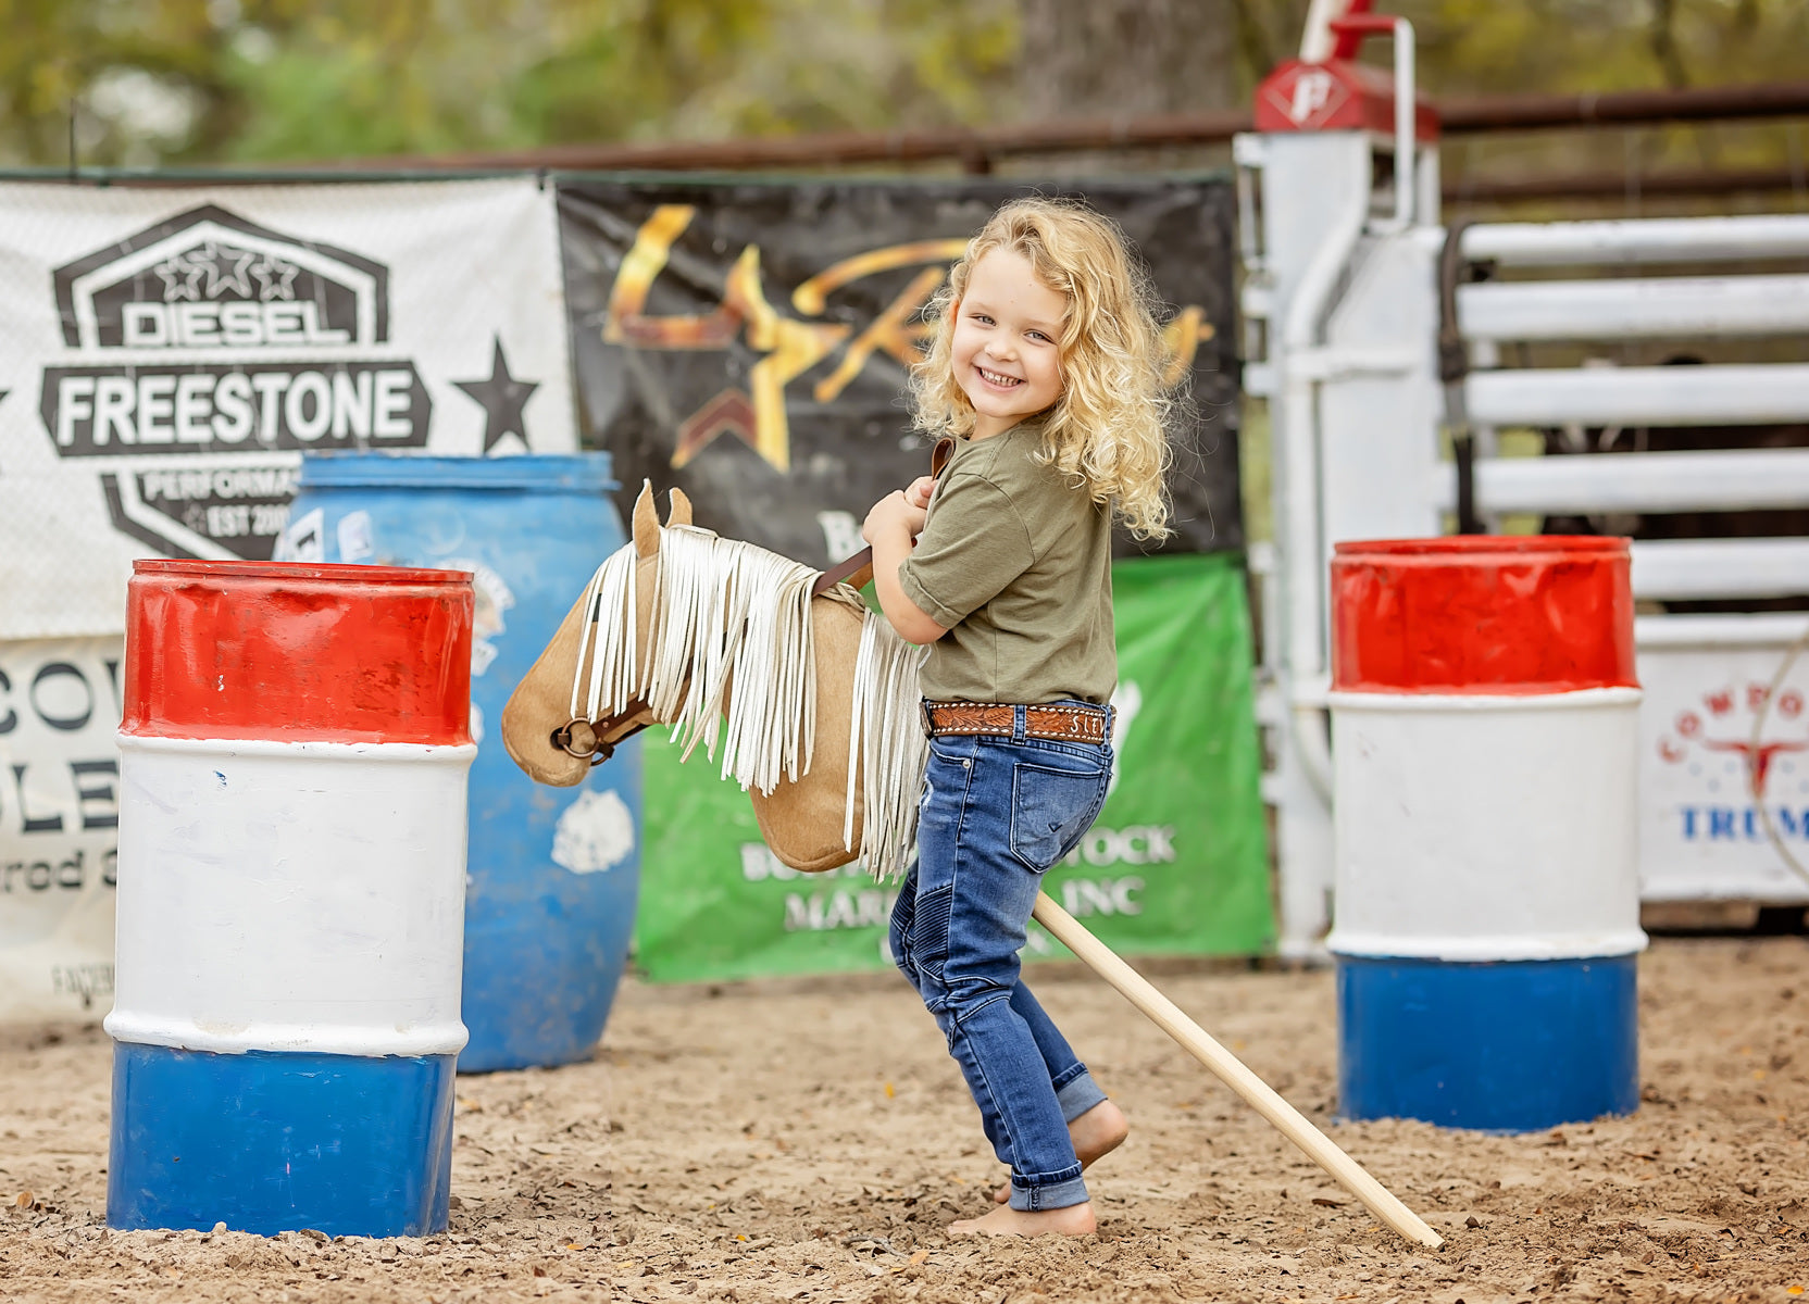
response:
M1255 955L1274 939L1250 619L1236 553L1113 568L1118 769L1098 823L1046 892L1125 955ZM660 734L660 736L655 736ZM660 982L888 964L892 884L798 874L747 796L662 731L646 740L637 960ZM1031 926L1031 957L1066 955Z

